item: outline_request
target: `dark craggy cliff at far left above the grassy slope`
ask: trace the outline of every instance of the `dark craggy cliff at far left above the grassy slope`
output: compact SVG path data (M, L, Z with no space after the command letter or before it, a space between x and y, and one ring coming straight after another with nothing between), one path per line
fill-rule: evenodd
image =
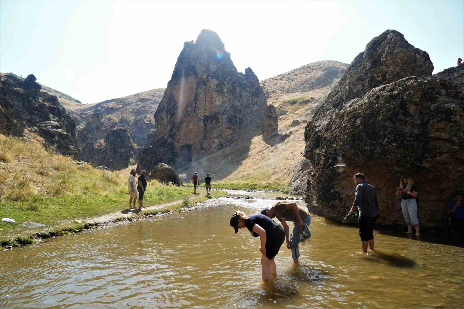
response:
M77 157L76 124L56 96L40 91L32 74L22 80L0 74L0 132L37 133L63 155Z

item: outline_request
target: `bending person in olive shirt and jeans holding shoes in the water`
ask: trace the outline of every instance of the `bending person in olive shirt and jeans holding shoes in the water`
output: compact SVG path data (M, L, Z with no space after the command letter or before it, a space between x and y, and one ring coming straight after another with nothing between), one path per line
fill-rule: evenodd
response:
M311 241L311 232L308 227L311 224L311 216L308 211L303 207L296 205L296 203L290 203L284 200L277 202L269 209L263 209L261 214L268 216L270 219L275 217L279 219L280 223L284 227L287 249L291 250L293 262L298 263L298 258L300 257L298 244L300 241L302 242L302 245L305 244L306 241ZM290 228L286 221L293 221L293 232L290 235L290 238ZM301 233L303 233L302 239L300 239Z

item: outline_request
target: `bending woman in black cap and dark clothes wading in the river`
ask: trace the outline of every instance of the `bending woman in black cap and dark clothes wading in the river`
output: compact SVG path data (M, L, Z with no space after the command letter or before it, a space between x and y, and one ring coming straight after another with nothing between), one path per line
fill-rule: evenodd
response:
M274 258L285 240L285 232L282 226L260 213L247 216L245 212L239 210L232 215L229 223L234 228L235 233L238 232L238 229L246 227L253 237L259 236L263 280L269 280L271 274L275 276L277 266Z

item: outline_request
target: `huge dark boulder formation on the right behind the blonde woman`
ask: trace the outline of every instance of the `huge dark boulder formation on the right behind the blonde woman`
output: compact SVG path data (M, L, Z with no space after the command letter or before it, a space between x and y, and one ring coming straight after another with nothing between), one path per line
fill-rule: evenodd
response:
M419 221L445 216L451 193L464 185L464 93L430 77L424 51L400 32L372 39L348 67L305 129L306 202L341 221L353 203L353 175L363 172L377 191L384 225L403 225L400 176L419 187ZM345 167L335 167L344 162Z

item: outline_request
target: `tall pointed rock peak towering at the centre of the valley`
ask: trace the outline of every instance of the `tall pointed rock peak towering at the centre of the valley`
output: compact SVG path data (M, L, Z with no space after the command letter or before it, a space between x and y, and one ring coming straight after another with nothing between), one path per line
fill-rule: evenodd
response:
M202 30L195 43L184 43L155 112L156 130L163 135L156 137L169 141L175 155L154 160L160 143L155 138L142 149L138 168L187 165L212 154L237 141L265 107L258 77L250 68L239 73L219 36Z

